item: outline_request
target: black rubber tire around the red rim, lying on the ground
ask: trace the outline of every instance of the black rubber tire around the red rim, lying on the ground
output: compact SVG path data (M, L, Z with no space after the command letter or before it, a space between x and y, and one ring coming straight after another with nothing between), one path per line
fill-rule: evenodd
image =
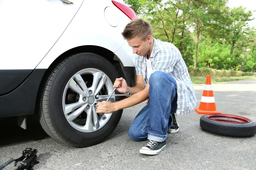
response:
M225 116L224 114L219 115ZM250 119L246 123L229 123L209 119L207 115L204 115L200 118L200 126L203 130L223 136L250 137L256 134L256 123Z

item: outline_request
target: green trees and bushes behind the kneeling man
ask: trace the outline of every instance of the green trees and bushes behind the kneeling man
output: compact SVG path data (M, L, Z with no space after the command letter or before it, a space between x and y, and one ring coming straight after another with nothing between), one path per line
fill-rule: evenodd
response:
M254 11L227 6L227 0L125 0L148 20L153 37L173 43L193 74L227 77L256 72ZM227 70L227 71L222 71ZM240 72L237 72L240 71Z

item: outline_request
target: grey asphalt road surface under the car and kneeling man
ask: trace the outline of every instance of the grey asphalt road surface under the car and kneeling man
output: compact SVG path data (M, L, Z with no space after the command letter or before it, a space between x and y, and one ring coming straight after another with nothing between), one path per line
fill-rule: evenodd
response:
M204 85L195 85L197 107ZM226 114L256 121L256 80L212 84L216 107ZM38 149L35 170L255 170L256 135L250 138L219 136L201 130L195 111L178 116L181 129L168 135L167 147L157 156L139 153L145 142L134 142L128 130L145 103L124 110L119 125L104 142L86 148L56 142L40 125L29 121L28 129L15 119L0 119L0 164L18 158L26 147ZM15 170L13 162L3 170Z

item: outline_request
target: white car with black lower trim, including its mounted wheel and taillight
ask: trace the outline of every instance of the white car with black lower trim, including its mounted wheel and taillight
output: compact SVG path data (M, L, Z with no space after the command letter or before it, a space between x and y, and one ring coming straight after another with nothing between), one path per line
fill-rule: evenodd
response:
M122 0L1 0L0 16L0 117L17 116L26 129L38 114L49 136L74 147L108 137L122 110L98 114L95 105L116 78L135 85L121 34L135 12Z

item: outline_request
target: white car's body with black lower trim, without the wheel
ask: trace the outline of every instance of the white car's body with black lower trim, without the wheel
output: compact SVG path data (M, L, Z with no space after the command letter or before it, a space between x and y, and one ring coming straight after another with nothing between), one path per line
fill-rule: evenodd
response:
M0 14L6 16L0 19L5 25L0 27L0 117L33 114L49 66L66 51L84 45L113 52L128 84L135 85L135 56L121 34L131 20L111 0L72 2L29 0L27 7L22 1L15 6L13 1L0 1Z

